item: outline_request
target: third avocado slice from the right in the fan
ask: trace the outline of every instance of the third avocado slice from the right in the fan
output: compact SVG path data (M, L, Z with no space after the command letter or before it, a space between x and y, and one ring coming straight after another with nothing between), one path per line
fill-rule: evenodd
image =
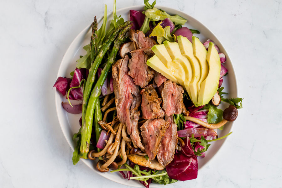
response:
M201 78L201 65L197 58L193 54L193 44L186 38L181 35L177 36L178 45L181 51L181 54L184 55L191 64L192 68L192 79L189 84L190 92L191 92L191 99L195 106L198 103L198 89L197 83Z

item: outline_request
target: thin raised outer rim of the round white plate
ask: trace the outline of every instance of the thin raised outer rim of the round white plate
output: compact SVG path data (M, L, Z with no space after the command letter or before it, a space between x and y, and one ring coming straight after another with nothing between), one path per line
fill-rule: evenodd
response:
M169 10L170 12L176 12L176 14L178 14L177 12L180 12L180 13L182 13L182 14L185 14L185 16L189 17L189 19L193 19L194 21L196 21L198 24L200 24L202 27L204 27L207 31L209 31L209 32L214 36L215 39L217 39L217 41L221 44L222 48L223 48L224 51L225 51L225 56L226 56L226 58L229 59L229 61L230 61L230 66L231 66L231 68L232 68L232 70L233 70L233 73L234 73L234 87L235 87L235 90L236 90L236 91L234 92L234 94L235 94L235 97L238 97L238 82L237 82L236 72L235 72L235 69L234 69L234 67L233 67L232 60L231 60L230 56L228 55L227 50L224 48L224 46L222 45L222 43L220 42L220 40L218 39L218 37L217 37L209 28L207 28L204 24L202 24L198 19L192 17L190 14L187 14L187 13L181 11L181 10L174 9L174 8L170 8L170 7L166 7L166 6L158 6L158 5L156 5L156 6L154 6L154 7L158 8L158 9L163 9L163 10L165 10L165 11ZM124 8L117 9L116 12L118 13L118 12L122 12L122 11L128 10L128 9L141 9L141 8L144 8L144 5L134 5L134 6L124 7ZM113 14L112 11L111 11L110 13L107 13L107 18L109 18L112 14ZM97 23L98 23L98 24L102 21L103 17L104 17L104 16L99 17L99 18L97 19ZM185 18L185 19L186 19L186 18ZM190 21L189 19L187 19L187 20ZM77 34L76 37L75 37L75 38L72 40L72 42L70 43L69 47L68 47L67 50L65 51L65 54L63 55L63 58L62 58L62 60L61 60L61 62L60 62L60 66L59 66L58 73L57 73L57 78L60 76L59 73L60 73L60 70L62 69L62 63L63 63L63 61L64 61L65 58L66 58L66 52L69 51L70 48L71 48L71 46L76 42L76 40L77 40L79 37L81 37L81 34L82 34L82 33L86 32L86 30L91 29L91 25L92 25L92 24L90 24L90 25L86 26L84 29L82 29L81 32L80 32L79 34ZM70 148L72 149L72 151L74 151L74 147L72 146L72 143L69 142L66 133L63 131L62 123L61 123L61 120L60 120L60 118L59 118L59 112L58 112L58 109L59 109L59 108L58 108L58 105L57 105L58 103L57 103L57 97L56 97L56 95L58 95L59 93L57 92L57 89L56 89L56 88L55 88L55 91L54 91L54 92L55 92L55 107L56 107L56 113L57 113L57 118L58 118L58 121L59 121L59 124L60 124L61 131L62 131L62 133L63 133L63 135L64 135L64 137L65 137L67 143L69 144ZM232 131L232 128L233 128L233 126L234 126L234 122L230 122L230 123L231 123L231 125L229 125L229 126L230 126L230 131ZM227 137L227 138L228 138L228 137ZM215 154L211 157L211 159L209 159L200 169L198 169L198 171L200 171L201 169L203 169L203 167L205 167L205 166L208 165L212 160L215 159L215 156L219 153L219 151L220 151L220 150L222 149L222 147L225 145L225 143L226 143L226 141L227 141L227 138L224 138L224 139L223 139L223 142L222 142L221 147L219 147L219 149L217 149L217 151L216 151ZM86 163L86 159L80 159L80 160L82 160L83 163L84 163L86 166L90 167L90 166ZM91 169L92 169L92 168L91 168ZM93 169L92 169L92 170L93 170ZM99 173L99 172L97 172L97 171L95 171L95 170L93 170L93 171L94 171L96 174L101 175L101 173ZM106 179L108 179L108 180L114 181L114 182L116 182L116 183L119 183L119 184L127 185L127 186L128 186L128 184L123 183L126 179L122 179L122 178L121 178L121 181L118 181L118 180L109 179L109 178L107 178L106 176L103 176L103 175L101 175L101 176L104 177L104 178L106 178ZM179 181L177 181L177 182L179 182ZM141 185L141 184L140 184L140 185ZM167 185L155 184L155 185L157 185L157 186L154 186L154 187L160 187L160 186L167 186L167 185L170 185L170 184L167 184ZM159 185L159 186L158 186L158 185ZM174 184L174 185L175 185L175 184ZM134 186L134 185L131 185L131 186ZM134 186L134 187L136 187L136 186ZM138 186L138 187L142 187L142 185L141 185L141 186Z

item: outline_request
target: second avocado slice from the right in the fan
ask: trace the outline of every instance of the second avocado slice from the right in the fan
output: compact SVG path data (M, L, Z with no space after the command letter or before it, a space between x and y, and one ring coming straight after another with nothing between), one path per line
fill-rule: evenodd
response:
M201 83L206 79L209 72L209 65L206 62L206 48L197 37L192 37L193 53L201 65L201 77L197 83L198 93L200 91Z

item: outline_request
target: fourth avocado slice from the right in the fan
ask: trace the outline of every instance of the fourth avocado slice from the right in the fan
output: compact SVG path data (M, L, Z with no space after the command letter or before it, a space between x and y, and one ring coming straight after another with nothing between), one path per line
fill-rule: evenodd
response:
M189 60L181 54L181 51L180 51L180 48L177 42L169 42L166 40L164 42L164 45L171 59L173 60L173 62L175 62L174 65L180 65L181 67L183 67L183 70L184 70L183 75L178 75L179 77L181 77L180 78L181 81L179 81L179 83L183 82L183 84L181 85L185 87L185 90L187 91L189 97L191 98L189 83L192 79L193 72L192 72L192 68L191 68L191 64Z

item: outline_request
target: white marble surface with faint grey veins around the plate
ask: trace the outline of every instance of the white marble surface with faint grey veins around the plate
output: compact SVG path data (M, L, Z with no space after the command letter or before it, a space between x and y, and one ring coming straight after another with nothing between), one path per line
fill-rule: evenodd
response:
M117 8L143 4L117 0ZM123 187L72 165L55 112L60 61L76 35L112 0L0 3L0 187ZM168 187L282 187L282 5L280 0L159 0L210 28L245 97L233 134L196 180Z

